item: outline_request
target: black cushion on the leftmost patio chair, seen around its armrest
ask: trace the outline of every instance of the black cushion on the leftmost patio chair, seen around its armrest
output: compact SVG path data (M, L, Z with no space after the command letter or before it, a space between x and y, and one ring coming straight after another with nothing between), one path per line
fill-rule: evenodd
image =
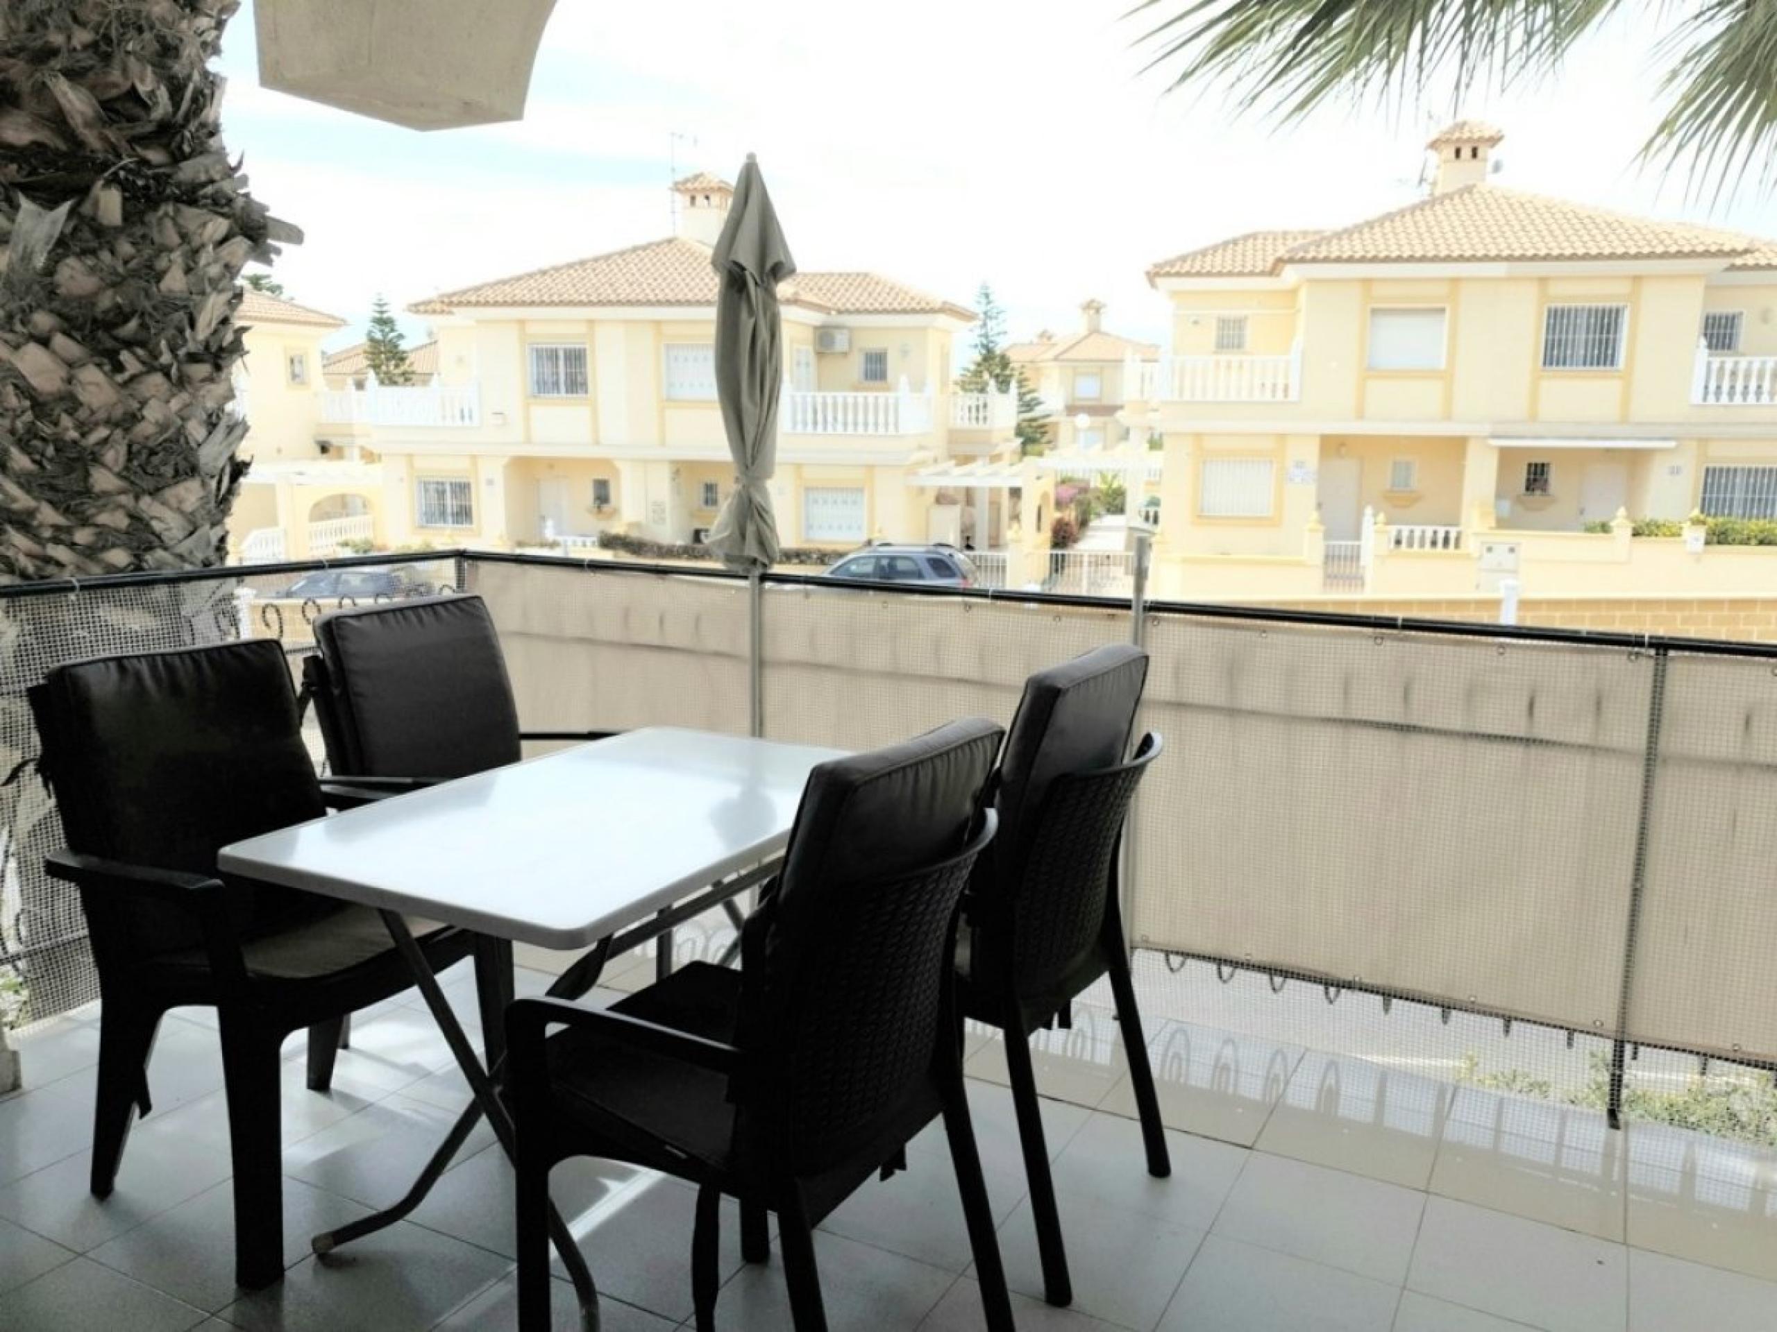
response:
M57 666L30 702L73 851L215 874L229 842L325 813L290 666L268 639ZM309 893L238 886L229 908L249 934L338 909ZM137 955L197 945L181 913L119 908Z

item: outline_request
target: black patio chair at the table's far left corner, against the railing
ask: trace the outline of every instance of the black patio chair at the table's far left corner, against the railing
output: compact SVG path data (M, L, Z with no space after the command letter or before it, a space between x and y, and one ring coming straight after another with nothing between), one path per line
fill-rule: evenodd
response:
M368 803L515 764L524 741L599 741L613 732L522 732L487 604L444 595L332 611L315 622L318 652L302 661L302 693L327 746L327 790ZM478 938L482 1027L498 1062L512 1002L512 941ZM309 1048L309 1082L325 1083L332 1050Z

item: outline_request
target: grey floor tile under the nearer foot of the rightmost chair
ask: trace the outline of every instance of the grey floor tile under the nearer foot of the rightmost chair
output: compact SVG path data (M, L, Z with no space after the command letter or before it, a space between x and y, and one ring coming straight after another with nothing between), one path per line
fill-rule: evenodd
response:
M1146 1332L1160 1321L1178 1279L1203 1243L1194 1225L1173 1225L1080 1193L1059 1193L1061 1233L1073 1279L1073 1309ZM1043 1296L1031 1201L1000 1225L1006 1280L1020 1295Z

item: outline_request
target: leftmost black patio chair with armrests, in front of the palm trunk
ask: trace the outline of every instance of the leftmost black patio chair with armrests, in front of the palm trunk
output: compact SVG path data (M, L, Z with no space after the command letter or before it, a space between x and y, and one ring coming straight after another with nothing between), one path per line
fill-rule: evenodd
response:
M217 870L229 842L322 817L284 652L268 639L57 666L30 689L41 771L68 849L48 872L80 890L100 977L92 1115L108 1197L167 1009L215 1007L235 1162L235 1279L284 1270L281 1046L412 977L370 908ZM414 922L435 968L467 934Z

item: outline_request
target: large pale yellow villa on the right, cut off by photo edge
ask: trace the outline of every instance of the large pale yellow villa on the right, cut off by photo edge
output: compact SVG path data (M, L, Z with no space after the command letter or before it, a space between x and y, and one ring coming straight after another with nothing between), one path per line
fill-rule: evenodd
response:
M1777 243L1502 188L1500 140L1452 124L1398 211L1148 270L1173 346L1123 419L1164 437L1160 595L1777 583L1701 527L1630 535L1777 517Z

